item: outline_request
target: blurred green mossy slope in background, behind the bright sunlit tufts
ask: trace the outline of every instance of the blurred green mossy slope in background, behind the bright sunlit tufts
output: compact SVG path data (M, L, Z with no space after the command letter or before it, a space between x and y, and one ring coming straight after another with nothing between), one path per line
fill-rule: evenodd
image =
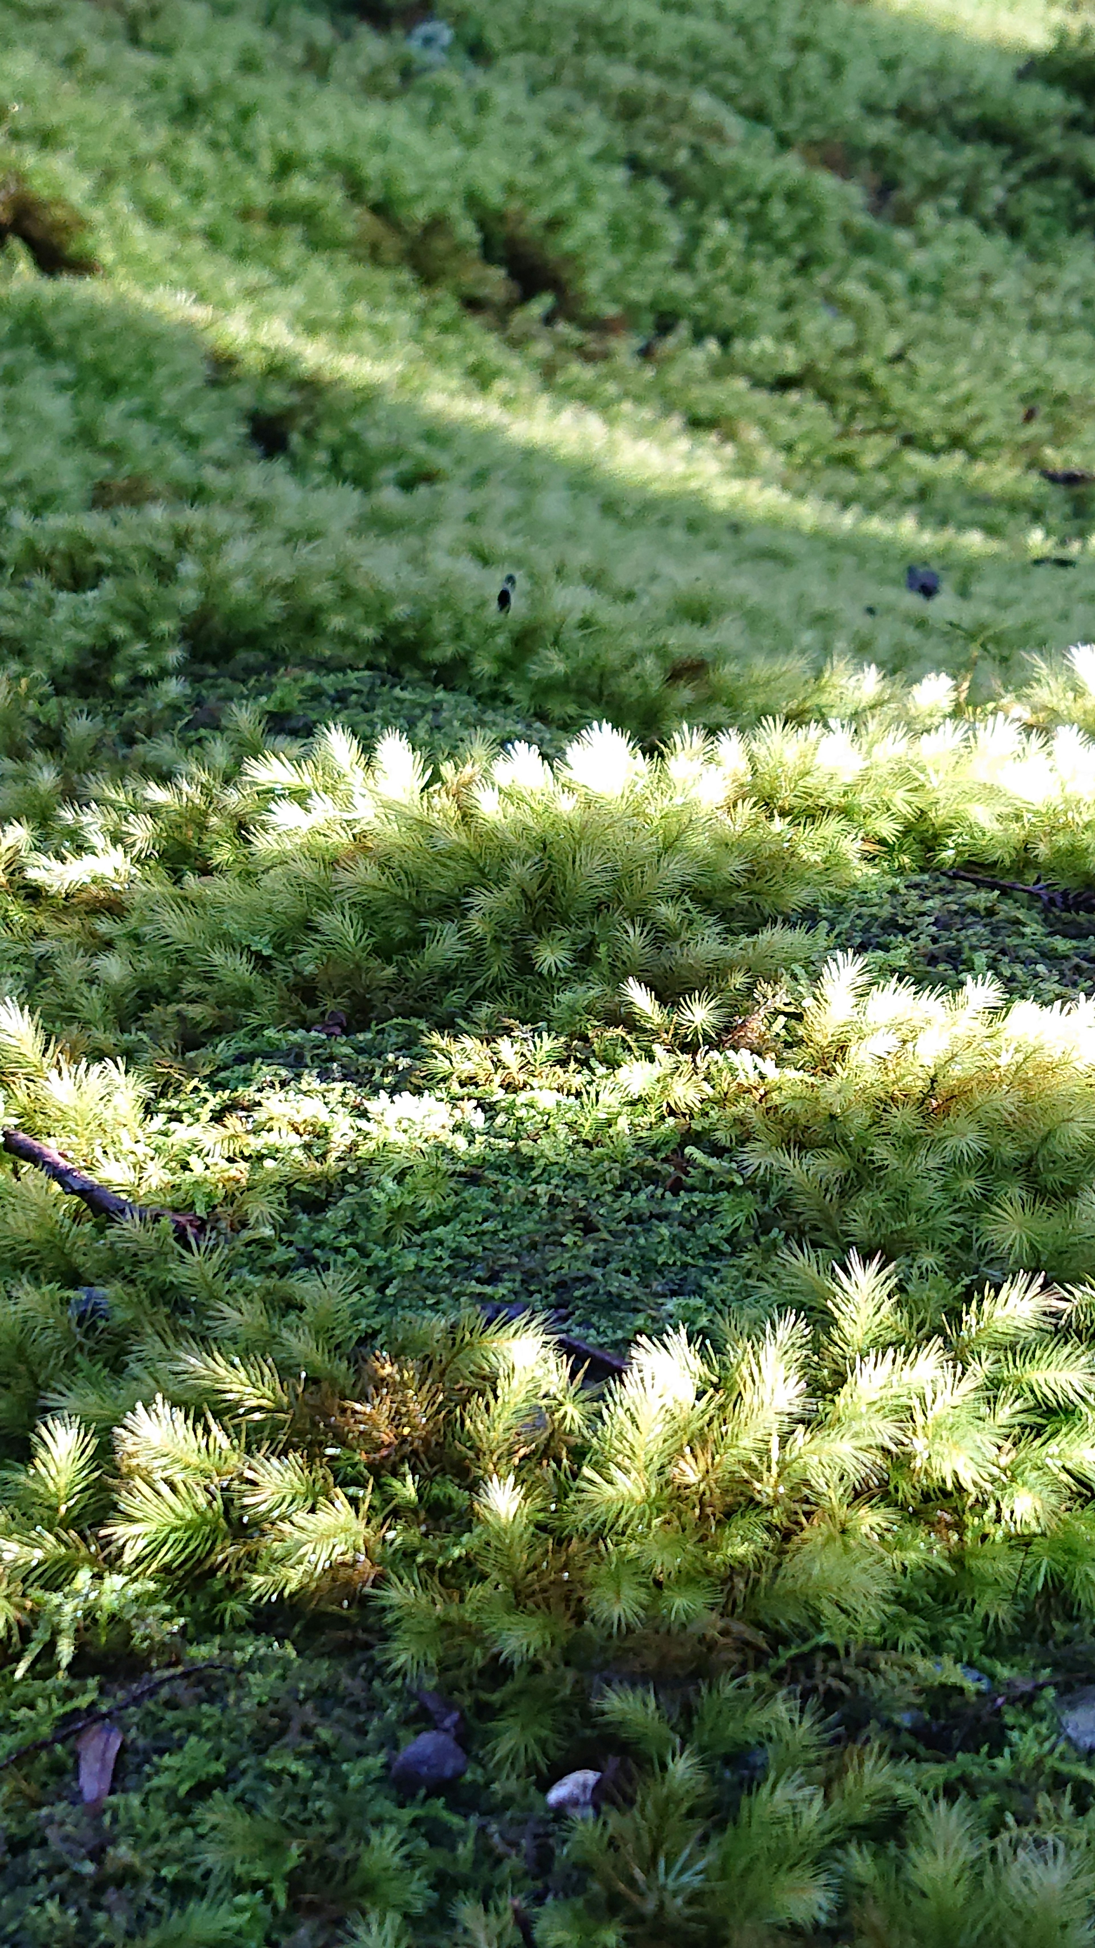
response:
M323 10L12 14L12 166L101 277L4 259L10 666L653 736L809 709L828 655L961 674L949 623L982 695L1083 637L1072 95L844 0L452 25L431 70Z

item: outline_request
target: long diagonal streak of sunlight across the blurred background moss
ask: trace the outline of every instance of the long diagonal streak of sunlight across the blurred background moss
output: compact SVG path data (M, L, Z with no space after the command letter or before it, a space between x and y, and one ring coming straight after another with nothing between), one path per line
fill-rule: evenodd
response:
M218 349L244 364L271 353L288 356L306 378L386 392L419 413L456 427L499 432L514 448L544 452L567 466L586 468L604 479L645 495L674 499L692 495L719 514L738 514L746 522L791 528L797 534L859 536L908 549L947 549L968 561L1013 559L1009 542L980 528L929 528L914 514L869 514L842 506L820 495L795 495L772 481L733 471L727 446L682 432L649 409L622 405L612 419L592 407L555 403L532 378L514 378L489 393L475 392L458 374L442 374L415 345L394 353L372 349L347 353L320 333L298 331L283 318L245 304L220 308L199 302L189 292L164 286L148 290L129 277L115 277L113 290L160 318L185 321L212 333ZM1038 540L1033 536L1033 540Z

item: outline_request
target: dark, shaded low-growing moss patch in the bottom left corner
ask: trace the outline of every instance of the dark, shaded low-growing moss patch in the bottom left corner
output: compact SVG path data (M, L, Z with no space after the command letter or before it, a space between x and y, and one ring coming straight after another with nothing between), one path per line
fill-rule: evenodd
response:
M325 1656L277 1638L208 1650L220 1669L117 1712L125 1743L101 1814L72 1790L70 1742L19 1765L6 1788L2 1940L166 1940L156 1930L173 1915L170 1938L187 1944L327 1944L362 1907L405 1913L442 1940L470 1882L487 1897L507 1888L491 1833L520 1833L520 1794L493 1792L473 1761L448 1800L407 1806L390 1757L431 1720L366 1642ZM109 1708L111 1695L94 1677L25 1679L8 1687L6 1722L29 1742L58 1710Z

